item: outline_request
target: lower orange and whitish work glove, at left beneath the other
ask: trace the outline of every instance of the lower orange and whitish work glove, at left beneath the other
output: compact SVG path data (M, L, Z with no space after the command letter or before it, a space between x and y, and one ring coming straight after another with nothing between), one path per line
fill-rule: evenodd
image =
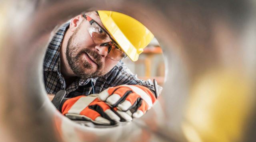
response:
M120 118L114 110L97 96L93 94L62 100L61 113L72 120L89 120L95 124L112 125L119 122Z

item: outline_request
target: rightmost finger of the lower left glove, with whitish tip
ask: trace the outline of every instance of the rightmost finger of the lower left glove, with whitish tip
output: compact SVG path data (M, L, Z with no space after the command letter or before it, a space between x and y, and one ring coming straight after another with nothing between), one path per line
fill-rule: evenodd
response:
M110 120L113 123L119 122L120 118L112 112L110 107L106 104L106 102L92 102L89 106L90 109L98 112L103 118Z

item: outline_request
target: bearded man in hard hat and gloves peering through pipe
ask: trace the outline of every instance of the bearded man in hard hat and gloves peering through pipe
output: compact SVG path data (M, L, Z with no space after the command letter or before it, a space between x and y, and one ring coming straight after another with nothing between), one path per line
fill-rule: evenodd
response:
M70 99L60 102L60 112L71 119L108 125L139 118L155 102L155 88L150 80L139 80L121 60L126 56L138 60L152 38L145 26L118 12L88 12L72 18L46 51L48 97L52 100L66 90L64 97Z

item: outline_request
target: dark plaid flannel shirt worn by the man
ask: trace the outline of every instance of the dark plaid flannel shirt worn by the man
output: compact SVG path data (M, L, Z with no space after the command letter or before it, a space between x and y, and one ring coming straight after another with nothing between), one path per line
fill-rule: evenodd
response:
M95 94L100 93L108 87L122 84L142 85L154 92L154 85L151 80L144 81L138 79L122 61L118 62L104 76L89 79L77 78L70 86L66 86L64 77L60 72L60 47L69 24L68 22L58 29L58 32L54 34L46 50L43 69L44 84L48 94L56 94L59 90L66 90L65 97L88 96L89 94L93 94L93 92ZM162 87L158 86L158 88L160 91L162 90Z

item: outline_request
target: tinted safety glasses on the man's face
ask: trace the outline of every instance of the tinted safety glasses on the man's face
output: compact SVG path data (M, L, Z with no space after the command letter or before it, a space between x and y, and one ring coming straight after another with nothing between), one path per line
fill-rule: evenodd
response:
M110 36L110 34L102 26L100 26L100 24L98 24L88 15L83 14L83 17L90 22L90 26L87 28L87 30L94 43L100 47L108 46L107 58L119 61L127 56L121 50L120 46L115 42L115 40Z

